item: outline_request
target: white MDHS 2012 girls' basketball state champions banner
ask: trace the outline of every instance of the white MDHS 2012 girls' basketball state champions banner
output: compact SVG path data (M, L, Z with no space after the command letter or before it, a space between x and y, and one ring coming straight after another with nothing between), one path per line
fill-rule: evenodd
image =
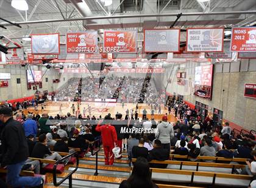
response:
M224 28L187 29L187 52L223 52Z

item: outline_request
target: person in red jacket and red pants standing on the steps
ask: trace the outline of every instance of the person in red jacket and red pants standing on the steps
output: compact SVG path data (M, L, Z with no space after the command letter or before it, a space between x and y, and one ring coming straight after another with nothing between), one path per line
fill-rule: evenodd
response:
M110 116L105 116L104 121L101 124L99 123L95 129L96 131L101 132L105 165L113 165L114 154L112 149L117 145L116 129L110 124L111 119Z

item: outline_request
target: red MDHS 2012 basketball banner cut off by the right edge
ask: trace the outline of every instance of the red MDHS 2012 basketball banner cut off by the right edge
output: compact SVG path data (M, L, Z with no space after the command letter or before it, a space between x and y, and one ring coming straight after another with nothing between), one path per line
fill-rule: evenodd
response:
M256 27L232 28L232 52L256 52Z

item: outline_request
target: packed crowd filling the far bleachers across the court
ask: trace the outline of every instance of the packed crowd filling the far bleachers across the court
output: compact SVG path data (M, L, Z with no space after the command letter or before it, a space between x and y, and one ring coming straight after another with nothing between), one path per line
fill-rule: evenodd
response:
M79 93L79 81L82 80ZM118 91L118 92L116 92ZM142 92L143 91L143 92ZM77 95L78 94L78 95ZM104 78L71 78L55 94L57 101L76 101L77 96L81 101L87 99L120 99L124 102L137 103L144 101L146 104L162 102L162 93L155 88L152 79L106 76Z

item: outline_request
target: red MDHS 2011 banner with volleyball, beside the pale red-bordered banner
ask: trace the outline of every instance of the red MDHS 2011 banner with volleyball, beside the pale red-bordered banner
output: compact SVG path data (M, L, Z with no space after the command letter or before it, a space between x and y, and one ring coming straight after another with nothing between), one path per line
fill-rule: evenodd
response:
M91 53L98 47L98 32L66 33L66 53Z

